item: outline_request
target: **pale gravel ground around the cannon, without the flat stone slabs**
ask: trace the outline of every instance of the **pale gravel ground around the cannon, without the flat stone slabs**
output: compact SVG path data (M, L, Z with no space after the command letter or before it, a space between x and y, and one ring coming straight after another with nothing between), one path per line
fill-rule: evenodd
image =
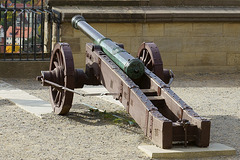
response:
M48 89L34 79L1 80L49 101ZM211 142L237 150L236 156L207 159L240 159L240 73L177 74L172 89L211 119ZM107 113L91 112L83 103ZM137 149L151 144L141 129L109 116L129 119L116 104L75 95L67 116L46 114L42 119L6 99L0 99L0 108L0 159L149 159Z

